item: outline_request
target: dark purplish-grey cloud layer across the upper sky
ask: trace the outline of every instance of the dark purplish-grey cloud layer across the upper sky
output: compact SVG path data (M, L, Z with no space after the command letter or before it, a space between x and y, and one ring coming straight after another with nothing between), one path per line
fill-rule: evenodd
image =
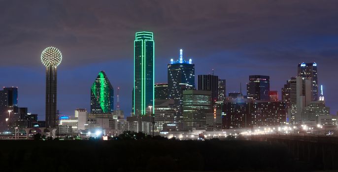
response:
M212 52L241 51L257 59L296 53L311 35L337 35L336 1L286 0L40 0L1 1L0 56L9 64L32 60L48 45L67 53L69 64L132 55L133 33L151 30L158 56L184 46L203 58ZM336 40L337 42L337 40ZM13 53L15 48L25 53ZM265 53L267 52L267 55ZM26 60L21 60L26 56ZM78 62L77 58L81 58ZM287 56L286 58L293 58ZM7 65L2 63L1 65ZM39 65L39 64L38 64Z

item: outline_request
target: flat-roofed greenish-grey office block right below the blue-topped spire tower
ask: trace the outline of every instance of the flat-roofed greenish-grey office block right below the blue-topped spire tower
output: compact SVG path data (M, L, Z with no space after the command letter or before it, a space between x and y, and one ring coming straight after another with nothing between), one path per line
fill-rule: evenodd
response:
M211 113L211 91L183 91L183 129L205 129L207 113Z

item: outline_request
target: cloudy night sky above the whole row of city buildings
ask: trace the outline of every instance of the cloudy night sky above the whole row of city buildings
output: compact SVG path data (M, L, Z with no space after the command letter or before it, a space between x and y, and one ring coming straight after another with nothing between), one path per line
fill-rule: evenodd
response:
M44 120L40 55L55 46L63 54L61 114L90 109L90 87L104 70L130 115L133 41L143 30L154 32L155 83L167 82L167 64L180 48L196 78L214 69L227 92L239 91L239 83L246 92L249 75L269 75L280 97L298 63L315 61L326 104L338 111L337 0L0 0L0 86L18 86L19 107Z

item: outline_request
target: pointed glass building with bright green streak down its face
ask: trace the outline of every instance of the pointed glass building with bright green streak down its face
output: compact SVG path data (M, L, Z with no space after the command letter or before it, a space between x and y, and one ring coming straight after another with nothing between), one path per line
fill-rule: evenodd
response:
M114 88L111 86L104 71L100 71L90 89L90 112L113 113Z

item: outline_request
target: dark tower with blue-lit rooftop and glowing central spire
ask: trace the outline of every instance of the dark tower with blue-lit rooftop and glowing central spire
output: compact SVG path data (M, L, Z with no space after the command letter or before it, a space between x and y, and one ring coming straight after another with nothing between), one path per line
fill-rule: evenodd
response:
M190 89L195 89L195 64L191 59L184 60L183 50L180 49L178 60L170 59L168 64L169 99L175 101L175 122L182 121L182 91Z

